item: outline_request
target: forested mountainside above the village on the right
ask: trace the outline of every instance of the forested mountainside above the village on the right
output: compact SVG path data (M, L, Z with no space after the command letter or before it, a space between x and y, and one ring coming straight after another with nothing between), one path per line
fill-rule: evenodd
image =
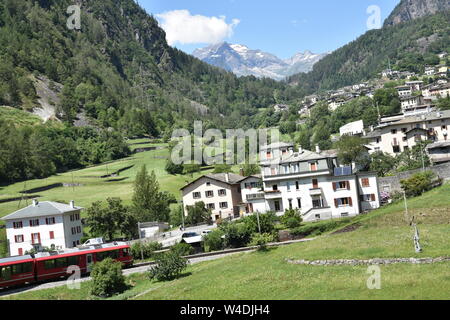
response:
M450 11L371 30L288 79L301 93L337 89L376 77L391 66L419 72L434 65L436 54L450 51Z

